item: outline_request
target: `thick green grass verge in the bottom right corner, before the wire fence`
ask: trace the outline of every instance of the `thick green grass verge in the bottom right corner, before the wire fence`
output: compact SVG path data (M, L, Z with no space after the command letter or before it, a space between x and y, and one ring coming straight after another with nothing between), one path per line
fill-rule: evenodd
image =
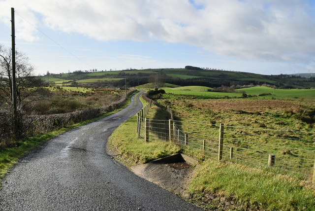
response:
M195 169L188 192L191 202L207 210L315 210L311 185L217 161L205 161Z

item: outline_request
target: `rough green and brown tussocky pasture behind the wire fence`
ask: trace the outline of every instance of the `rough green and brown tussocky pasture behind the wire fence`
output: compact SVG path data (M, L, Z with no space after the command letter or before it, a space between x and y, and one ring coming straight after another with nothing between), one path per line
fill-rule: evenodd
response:
M183 95L163 95L159 104L170 106L183 133L195 144L206 140L208 154L190 151L199 159L217 156L219 123L224 123L223 156L236 149L235 162L258 168L266 166L268 154L275 154L281 174L310 179L315 158L314 101L262 99L191 99ZM302 132L289 132L302 131ZM308 132L308 133L306 133ZM240 162L239 162L240 161ZM234 162L234 161L233 161ZM278 170L276 170L278 171Z

